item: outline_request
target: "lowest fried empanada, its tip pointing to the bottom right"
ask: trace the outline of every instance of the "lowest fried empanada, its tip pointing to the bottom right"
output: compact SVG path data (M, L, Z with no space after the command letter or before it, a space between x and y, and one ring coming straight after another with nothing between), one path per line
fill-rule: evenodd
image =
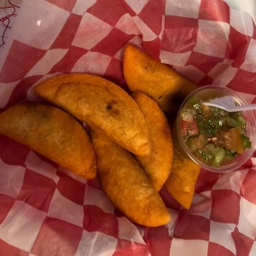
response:
M168 223L171 215L137 160L99 132L92 131L91 140L97 177L113 205L137 224L154 227Z

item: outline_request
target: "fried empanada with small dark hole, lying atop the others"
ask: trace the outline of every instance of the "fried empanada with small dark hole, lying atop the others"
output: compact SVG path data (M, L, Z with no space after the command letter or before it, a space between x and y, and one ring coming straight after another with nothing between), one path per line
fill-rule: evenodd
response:
M143 113L118 85L98 76L72 73L48 79L35 91L132 153L149 154Z

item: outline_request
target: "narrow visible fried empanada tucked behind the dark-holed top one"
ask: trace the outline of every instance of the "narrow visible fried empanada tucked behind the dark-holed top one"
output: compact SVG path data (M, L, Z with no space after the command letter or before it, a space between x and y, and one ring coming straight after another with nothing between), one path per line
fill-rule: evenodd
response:
M172 132L165 114L158 104L142 92L135 91L132 97L146 119L151 151L148 155L135 155L154 188L159 191L169 177L172 168Z

